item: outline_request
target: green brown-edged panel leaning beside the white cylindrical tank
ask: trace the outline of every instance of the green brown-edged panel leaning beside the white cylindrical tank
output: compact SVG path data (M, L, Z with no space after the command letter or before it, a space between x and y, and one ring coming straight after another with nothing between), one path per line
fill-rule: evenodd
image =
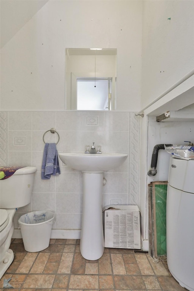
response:
M166 197L167 181L156 181L149 185L152 194L152 256L166 257Z

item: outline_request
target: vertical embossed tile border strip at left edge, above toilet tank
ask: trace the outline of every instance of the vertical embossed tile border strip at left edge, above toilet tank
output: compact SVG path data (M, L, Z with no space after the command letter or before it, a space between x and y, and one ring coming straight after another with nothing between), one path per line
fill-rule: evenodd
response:
M0 165L8 165L8 112L0 112Z

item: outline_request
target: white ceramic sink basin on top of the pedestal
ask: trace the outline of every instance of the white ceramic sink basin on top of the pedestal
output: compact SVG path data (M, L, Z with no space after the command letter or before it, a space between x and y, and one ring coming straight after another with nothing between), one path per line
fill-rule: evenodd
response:
M63 152L59 153L59 158L72 169L82 172L102 173L122 165L127 155L116 152L103 152L102 154Z

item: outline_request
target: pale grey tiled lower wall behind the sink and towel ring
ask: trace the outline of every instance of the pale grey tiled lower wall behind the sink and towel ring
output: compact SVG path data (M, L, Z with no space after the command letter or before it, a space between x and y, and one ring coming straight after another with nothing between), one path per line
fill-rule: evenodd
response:
M103 206L110 199L119 199L123 205L139 205L139 139L140 120L134 112L6 112L1 113L8 136L3 136L4 156L9 165L36 166L37 172L32 201L19 208L14 217L15 228L18 218L26 212L51 210L56 213L55 229L80 229L82 223L82 173L62 167L61 175L41 180L43 135L55 127L59 132L58 152L84 151L85 145L102 146L102 152L124 152L127 160L117 169L107 171L103 186ZM6 119L8 115L8 120ZM94 116L94 117L93 117ZM94 120L89 122L90 117ZM87 125L87 121L88 124ZM26 136L26 145L14 146L14 136ZM56 142L57 134L47 132L45 142ZM7 146L7 148L6 148ZM132 156L133 155L133 156ZM130 198L132 197L132 198Z

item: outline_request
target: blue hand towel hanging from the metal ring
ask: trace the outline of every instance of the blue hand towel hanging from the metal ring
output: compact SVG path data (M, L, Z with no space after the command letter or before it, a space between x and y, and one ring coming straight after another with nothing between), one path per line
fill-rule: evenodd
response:
M56 144L46 143L43 152L41 178L46 180L50 179L51 175L59 176L59 174L61 174L61 172Z

